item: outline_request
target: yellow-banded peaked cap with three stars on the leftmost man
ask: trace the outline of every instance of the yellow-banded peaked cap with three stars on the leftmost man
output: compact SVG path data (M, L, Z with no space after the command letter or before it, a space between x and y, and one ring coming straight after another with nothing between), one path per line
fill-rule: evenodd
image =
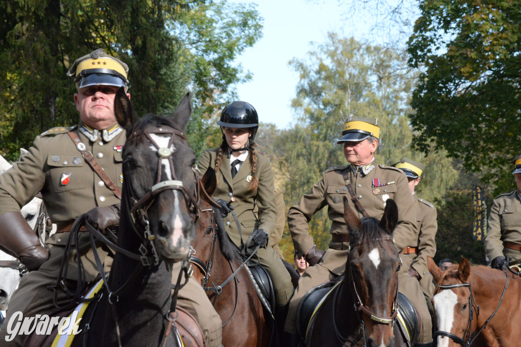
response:
M128 70L126 63L98 48L77 59L67 75L74 79L78 89L97 84L128 87Z

